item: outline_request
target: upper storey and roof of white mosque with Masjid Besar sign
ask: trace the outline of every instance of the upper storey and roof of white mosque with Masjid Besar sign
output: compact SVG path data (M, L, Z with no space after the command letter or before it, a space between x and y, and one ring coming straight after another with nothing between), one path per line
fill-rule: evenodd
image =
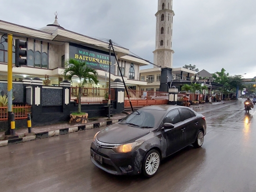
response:
M90 86L104 88L109 81L109 71L111 81L121 79L113 52L109 56L108 42L66 30L55 17L53 24L40 29L0 20L0 81L7 80L8 33L13 35L13 64L15 39L27 41L27 65L18 68L13 66L13 81L22 81L25 77L39 77L44 80L45 75L48 75L50 85L58 85L63 81L64 64L69 58L85 61L97 70L100 83ZM126 84L137 90L140 85L146 85L146 82L139 80L139 67L148 63L129 56L130 52L126 48L114 46L114 49ZM73 86L77 86L78 81L74 78Z

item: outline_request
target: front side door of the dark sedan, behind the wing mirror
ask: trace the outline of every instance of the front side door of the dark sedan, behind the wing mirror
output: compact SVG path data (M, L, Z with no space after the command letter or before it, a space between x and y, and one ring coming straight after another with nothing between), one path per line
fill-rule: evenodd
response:
M165 155L171 155L176 151L182 149L184 144L183 137L183 123L178 109L170 111L161 127L164 127L164 123L174 124L172 129L161 129L163 139L162 139L162 148L166 150Z

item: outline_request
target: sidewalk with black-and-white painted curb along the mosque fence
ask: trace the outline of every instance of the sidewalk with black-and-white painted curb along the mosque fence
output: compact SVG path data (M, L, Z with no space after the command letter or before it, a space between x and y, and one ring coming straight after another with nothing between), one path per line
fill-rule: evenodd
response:
M16 139L11 140L3 140L4 138L4 132L0 132L0 146L7 146L9 144L17 144L25 141L30 141L34 139L39 138L47 138L47 137L54 137L59 135L65 135L68 133L73 133L77 131L84 131L86 129L92 129L92 128L99 128L108 126L114 123L119 122L121 119L126 117L127 114L120 113L113 115L111 117L111 120L108 120L107 117L100 117L100 118L94 118L89 119L89 122L86 124L77 124L77 125L70 125L69 123L60 123L60 124L54 124L54 125L48 125L48 126L38 126L31 128L31 131L35 133L35 135L27 135L28 130L27 128L21 128L16 130L16 134L19 136ZM97 120L96 120L97 119Z

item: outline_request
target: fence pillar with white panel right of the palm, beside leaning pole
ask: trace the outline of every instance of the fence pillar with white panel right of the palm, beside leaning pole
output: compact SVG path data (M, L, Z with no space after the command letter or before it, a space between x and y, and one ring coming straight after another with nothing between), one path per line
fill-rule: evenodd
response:
M120 79L116 79L110 83L110 88L115 90L115 99L112 101L112 114L121 113L124 111L124 83Z

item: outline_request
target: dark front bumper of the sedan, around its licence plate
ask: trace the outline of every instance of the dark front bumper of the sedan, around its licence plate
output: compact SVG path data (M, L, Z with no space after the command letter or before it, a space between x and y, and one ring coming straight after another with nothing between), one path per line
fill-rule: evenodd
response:
M93 158L93 153L102 157L102 164ZM91 143L91 162L110 174L140 174L145 155L146 152L140 148L128 153L116 153L112 149L98 148L94 142ZM129 165L131 168L129 168Z

